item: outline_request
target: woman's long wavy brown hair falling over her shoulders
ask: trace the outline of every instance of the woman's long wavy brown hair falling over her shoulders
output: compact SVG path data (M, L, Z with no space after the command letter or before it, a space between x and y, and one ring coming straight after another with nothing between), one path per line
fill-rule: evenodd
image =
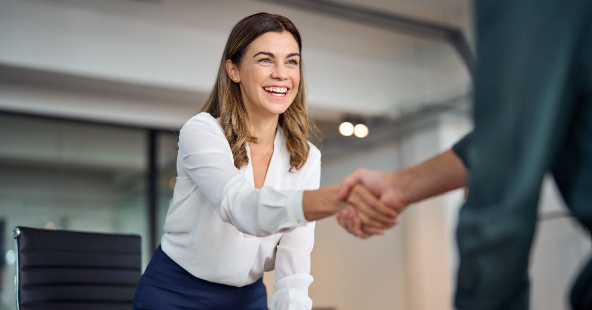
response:
M226 74L226 60L237 66L242 61L249 44L266 32L288 31L298 43L298 51L302 51L300 32L288 18L281 15L258 13L245 17L237 22L230 32L224 53L220 60L218 76L214 88L208 97L202 111L210 113L214 118L220 118L220 125L226 139L230 143L234 166L241 168L249 162L246 143L257 143L257 138L250 133L247 124L248 116L244 108L238 83L230 80ZM290 154L290 170L300 169L308 158L310 146L307 143L309 129L318 134L318 129L308 118L306 106L306 84L300 61L300 86L292 104L279 115L278 125L284 130L286 147Z

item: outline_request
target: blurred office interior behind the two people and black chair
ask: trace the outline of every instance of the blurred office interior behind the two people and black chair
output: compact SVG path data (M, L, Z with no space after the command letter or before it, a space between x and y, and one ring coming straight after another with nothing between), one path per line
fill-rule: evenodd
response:
M469 0L0 0L0 309L16 309L17 225L140 234L147 265L178 129L210 92L230 29L260 11L301 31L321 186L360 167L408 167L471 130ZM345 121L367 135L340 134ZM540 201L532 309L568 309L591 251L554 186ZM318 221L315 309L452 309L463 198L413 205L365 241ZM265 282L271 295L273 273Z

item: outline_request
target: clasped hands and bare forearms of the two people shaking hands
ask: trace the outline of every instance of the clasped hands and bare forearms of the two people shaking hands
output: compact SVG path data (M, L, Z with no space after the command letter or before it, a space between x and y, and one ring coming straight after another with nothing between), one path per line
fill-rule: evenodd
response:
M339 187L305 191L304 216L312 221L335 214L344 229L366 239L397 225L408 204L463 187L467 173L452 150L397 172L358 169Z

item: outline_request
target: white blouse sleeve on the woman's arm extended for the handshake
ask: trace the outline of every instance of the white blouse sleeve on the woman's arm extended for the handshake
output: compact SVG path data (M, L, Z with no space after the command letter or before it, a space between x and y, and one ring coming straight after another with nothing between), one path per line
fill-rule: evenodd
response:
M264 237L304 226L304 190L253 188L227 155L228 142L215 120L200 113L179 132L178 160L223 221Z

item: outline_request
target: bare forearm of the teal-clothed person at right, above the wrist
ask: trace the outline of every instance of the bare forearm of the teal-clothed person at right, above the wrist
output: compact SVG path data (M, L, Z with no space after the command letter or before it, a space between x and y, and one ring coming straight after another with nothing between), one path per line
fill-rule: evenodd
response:
M404 203L412 204L465 186L468 171L452 150L421 164L393 172L393 188L401 188Z

